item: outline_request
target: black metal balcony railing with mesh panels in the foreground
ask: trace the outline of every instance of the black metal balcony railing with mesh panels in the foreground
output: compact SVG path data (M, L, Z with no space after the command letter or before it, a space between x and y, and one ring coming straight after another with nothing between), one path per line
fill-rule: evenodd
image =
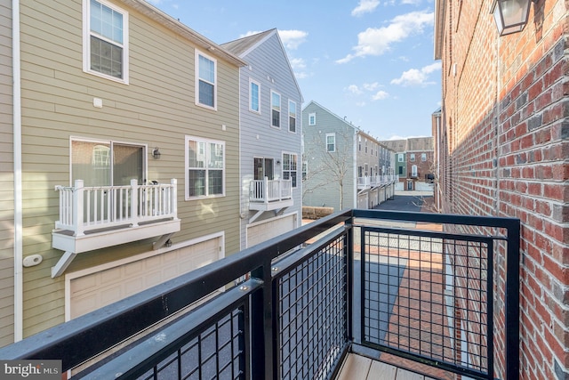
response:
M348 352L368 350L478 379L493 379L499 357L515 378L518 265L516 219L344 211L4 347L0 358L76 368L170 318L74 378L332 379ZM506 320L494 331L496 302Z

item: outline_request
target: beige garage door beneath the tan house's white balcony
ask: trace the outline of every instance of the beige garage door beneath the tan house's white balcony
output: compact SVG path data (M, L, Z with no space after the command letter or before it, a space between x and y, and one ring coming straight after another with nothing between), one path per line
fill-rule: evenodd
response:
M208 239L71 279L69 317L79 317L219 260L221 241L219 237Z

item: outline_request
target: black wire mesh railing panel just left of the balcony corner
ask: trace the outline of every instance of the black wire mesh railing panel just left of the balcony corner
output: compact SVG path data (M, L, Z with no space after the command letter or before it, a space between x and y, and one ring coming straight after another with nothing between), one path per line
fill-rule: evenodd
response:
M277 285L282 379L326 379L348 344L346 235L285 273Z

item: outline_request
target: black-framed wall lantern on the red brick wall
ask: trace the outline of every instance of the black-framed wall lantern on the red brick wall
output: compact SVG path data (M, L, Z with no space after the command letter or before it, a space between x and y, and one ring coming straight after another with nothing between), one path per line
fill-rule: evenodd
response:
M521 32L530 14L530 6L537 0L494 0L492 13L500 36Z

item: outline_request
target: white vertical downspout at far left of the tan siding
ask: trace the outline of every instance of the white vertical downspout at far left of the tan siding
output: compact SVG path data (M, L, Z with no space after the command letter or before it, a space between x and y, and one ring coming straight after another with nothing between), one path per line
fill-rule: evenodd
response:
M23 336L20 1L12 0L12 117L14 150L14 342Z

